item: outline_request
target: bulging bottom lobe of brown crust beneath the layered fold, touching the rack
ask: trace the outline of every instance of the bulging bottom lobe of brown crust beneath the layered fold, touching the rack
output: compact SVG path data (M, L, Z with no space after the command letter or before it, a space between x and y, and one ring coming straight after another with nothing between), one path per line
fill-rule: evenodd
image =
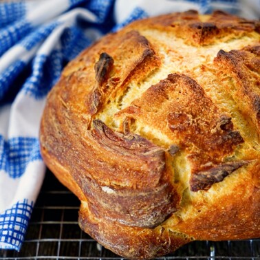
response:
M191 241L182 233L160 226L150 229L124 226L117 221L100 221L88 208L84 204L80 207L80 227L110 250L129 259L163 256Z

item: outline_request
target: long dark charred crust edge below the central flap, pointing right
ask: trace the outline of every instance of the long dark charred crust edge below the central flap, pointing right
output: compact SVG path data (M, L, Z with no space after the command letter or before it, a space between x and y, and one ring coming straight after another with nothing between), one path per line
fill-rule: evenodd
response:
M190 180L191 191L207 191L213 184L221 182L226 176L248 163L248 161L226 162L206 171L193 173Z

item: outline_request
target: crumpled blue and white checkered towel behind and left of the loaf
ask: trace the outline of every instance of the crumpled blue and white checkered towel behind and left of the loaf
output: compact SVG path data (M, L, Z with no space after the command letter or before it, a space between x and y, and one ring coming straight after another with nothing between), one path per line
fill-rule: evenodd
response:
M135 19L188 9L257 19L260 0L0 2L0 248L19 250L25 237L45 173L41 113L64 65Z

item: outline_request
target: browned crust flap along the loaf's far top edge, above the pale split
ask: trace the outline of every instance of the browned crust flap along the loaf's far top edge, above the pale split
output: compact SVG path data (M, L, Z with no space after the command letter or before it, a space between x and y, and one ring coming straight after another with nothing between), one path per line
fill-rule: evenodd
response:
M169 30L185 39L187 44L208 45L214 41L228 41L229 39L243 36L248 32L259 32L259 21L248 21L222 11L215 11L207 19L201 21L196 11L177 12L164 14L159 17L146 19L145 25L158 30Z

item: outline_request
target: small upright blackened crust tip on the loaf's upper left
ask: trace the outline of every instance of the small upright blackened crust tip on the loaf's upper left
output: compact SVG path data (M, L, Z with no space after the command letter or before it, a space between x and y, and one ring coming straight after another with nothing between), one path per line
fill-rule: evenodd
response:
M102 52L98 62L95 64L96 81L98 85L102 85L109 78L109 72L113 67L113 58L109 54Z

